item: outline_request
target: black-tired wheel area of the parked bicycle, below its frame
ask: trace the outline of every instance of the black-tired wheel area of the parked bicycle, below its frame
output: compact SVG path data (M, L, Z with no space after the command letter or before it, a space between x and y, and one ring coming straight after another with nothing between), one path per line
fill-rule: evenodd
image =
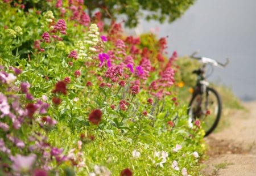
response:
M205 93L195 92L189 102L189 124L200 119L205 136L208 136L220 121L221 108L221 98L213 88L207 87Z

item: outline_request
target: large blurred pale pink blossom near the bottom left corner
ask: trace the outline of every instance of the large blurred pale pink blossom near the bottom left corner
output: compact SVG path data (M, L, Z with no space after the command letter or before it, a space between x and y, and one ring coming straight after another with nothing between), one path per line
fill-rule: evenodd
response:
M18 173L27 173L32 169L32 166L36 160L36 154L32 153L28 156L22 156L17 154L13 157L13 170Z

